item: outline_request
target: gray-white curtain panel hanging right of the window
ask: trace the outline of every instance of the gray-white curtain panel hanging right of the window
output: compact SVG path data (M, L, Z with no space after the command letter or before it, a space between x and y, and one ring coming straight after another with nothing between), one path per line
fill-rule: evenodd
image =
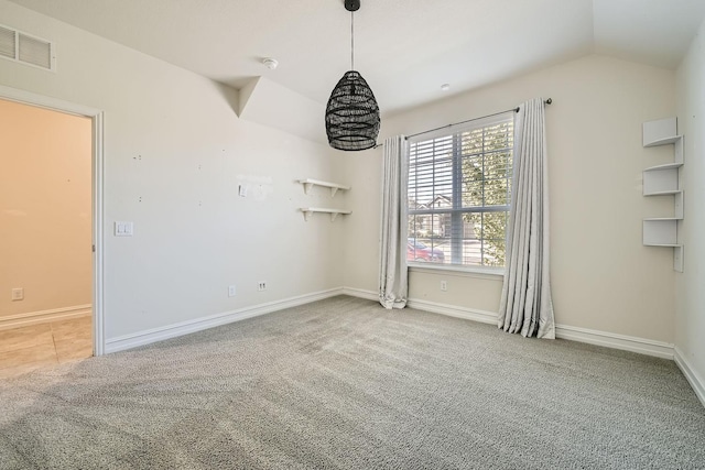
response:
M554 339L544 102L536 98L519 108L514 117L514 174L498 326L524 337Z

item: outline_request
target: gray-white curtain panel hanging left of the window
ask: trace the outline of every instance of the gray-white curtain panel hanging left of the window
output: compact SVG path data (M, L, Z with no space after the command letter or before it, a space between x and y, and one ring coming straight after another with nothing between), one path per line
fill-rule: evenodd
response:
M384 141L382 163L382 220L379 266L379 303L384 308L404 308L409 292L406 270L406 138Z

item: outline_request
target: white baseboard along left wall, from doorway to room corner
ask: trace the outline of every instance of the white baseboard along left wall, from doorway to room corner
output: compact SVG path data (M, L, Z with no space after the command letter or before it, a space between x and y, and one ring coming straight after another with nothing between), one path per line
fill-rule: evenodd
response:
M193 320L182 321L178 324L167 325L164 327L152 328L144 331L138 331L130 335L109 338L106 341L106 353L124 351L127 349L137 348L138 346L150 345L165 339L176 338L178 336L188 335L204 329L217 327L220 325L231 324L234 321L245 320L247 318L257 317L272 311L282 310L284 308L296 307L299 305L308 304L324 298L334 297L343 294L343 288L332 288L328 291L316 292L313 294L300 295L282 300L259 304L251 307L245 307L237 310L224 311L221 314L210 315L207 317L196 318Z

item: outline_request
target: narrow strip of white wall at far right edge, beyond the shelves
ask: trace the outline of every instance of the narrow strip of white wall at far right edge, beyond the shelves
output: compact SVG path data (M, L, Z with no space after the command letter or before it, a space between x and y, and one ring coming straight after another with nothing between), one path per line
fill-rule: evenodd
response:
M699 382L705 403L705 22L676 76L679 133L685 135L685 214L679 234L684 271L676 276L675 347Z

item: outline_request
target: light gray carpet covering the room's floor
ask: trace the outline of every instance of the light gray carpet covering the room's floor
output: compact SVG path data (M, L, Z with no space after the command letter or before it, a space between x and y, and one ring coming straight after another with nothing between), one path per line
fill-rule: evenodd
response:
M671 361L335 297L0 382L1 469L703 469Z

